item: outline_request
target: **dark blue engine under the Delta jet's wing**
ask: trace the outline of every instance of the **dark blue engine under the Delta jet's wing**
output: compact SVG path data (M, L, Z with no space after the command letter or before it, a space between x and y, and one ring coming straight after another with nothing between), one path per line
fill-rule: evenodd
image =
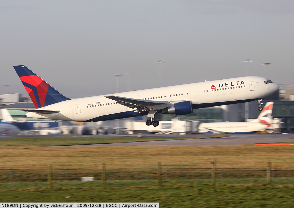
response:
M176 116L179 116L193 113L193 110L190 101L183 101L175 103L171 107L166 107L161 112L162 114L176 114Z

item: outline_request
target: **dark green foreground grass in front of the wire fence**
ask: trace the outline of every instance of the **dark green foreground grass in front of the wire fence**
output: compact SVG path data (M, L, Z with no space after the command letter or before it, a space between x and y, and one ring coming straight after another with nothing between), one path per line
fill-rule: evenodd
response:
M293 207L293 187L177 185L0 192L1 202L159 202L160 207ZM69 198L66 198L70 196Z

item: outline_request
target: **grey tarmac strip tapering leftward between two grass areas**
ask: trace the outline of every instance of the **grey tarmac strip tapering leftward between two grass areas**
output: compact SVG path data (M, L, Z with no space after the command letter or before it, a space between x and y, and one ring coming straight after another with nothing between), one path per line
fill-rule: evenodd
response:
M196 137L197 138L197 137ZM113 144L88 144L76 145L75 147L87 146L130 146L130 145L236 145L236 144L255 144L255 143L277 143L294 142L294 134L253 134L253 135L228 135L223 138L207 139L178 139L163 140L152 142L125 142ZM70 146L73 147L73 146Z

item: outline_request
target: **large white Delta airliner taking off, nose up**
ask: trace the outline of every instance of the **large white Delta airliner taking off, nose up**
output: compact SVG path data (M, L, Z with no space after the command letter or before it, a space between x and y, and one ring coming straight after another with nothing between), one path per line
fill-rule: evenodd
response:
M185 115L193 109L243 103L278 91L280 86L258 76L239 77L110 95L69 99L24 65L14 66L36 109L27 117L97 122L147 115L147 125L158 126L156 113Z

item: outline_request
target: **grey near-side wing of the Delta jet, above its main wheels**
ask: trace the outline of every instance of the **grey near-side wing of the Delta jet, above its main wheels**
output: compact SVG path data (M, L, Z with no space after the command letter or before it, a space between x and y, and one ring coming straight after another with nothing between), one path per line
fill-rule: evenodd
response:
M105 96L111 100L117 101L118 104L124 105L128 108L136 108L138 111L146 111L146 110L161 110L166 107L172 106L168 101L155 101L155 100L140 100L140 99L133 99L127 97L119 97L119 96Z

